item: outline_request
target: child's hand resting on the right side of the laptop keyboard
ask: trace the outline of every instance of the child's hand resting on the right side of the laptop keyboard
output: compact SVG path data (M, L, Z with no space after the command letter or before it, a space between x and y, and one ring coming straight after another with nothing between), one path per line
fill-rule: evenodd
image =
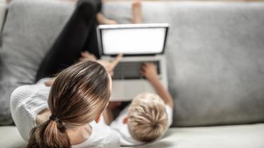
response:
M141 72L142 76L145 76L146 79L152 81L158 79L157 67L152 62L146 62L142 65Z

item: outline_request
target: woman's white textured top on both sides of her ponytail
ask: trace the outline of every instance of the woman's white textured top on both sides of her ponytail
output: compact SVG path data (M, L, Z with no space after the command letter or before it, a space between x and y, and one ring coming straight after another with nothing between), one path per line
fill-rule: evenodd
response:
M30 138L30 130L36 125L36 116L48 109L50 87L45 86L42 79L38 83L16 88L11 95L11 113L15 126L25 141ZM80 147L120 147L118 135L101 119L99 123L89 123L92 134L89 139L73 148Z

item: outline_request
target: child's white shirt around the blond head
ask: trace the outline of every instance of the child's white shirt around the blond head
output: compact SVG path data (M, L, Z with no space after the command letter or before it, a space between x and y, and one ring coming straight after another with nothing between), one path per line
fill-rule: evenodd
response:
M127 124L123 123L125 116L127 116L127 110L128 110L128 106L125 109L123 109L122 112L120 112L118 118L111 123L110 127L113 130L115 130L115 133L118 134L121 146L135 146L135 145L146 144L146 142L140 142L138 140L135 140L132 137L132 135L130 135L130 131L128 130ZM166 128L166 130L168 130L168 128L170 128L172 124L173 114L172 114L172 108L169 105L165 106L165 110L168 115L168 126ZM163 137L163 135L161 135L161 137ZM158 139L160 139L161 137L159 137Z

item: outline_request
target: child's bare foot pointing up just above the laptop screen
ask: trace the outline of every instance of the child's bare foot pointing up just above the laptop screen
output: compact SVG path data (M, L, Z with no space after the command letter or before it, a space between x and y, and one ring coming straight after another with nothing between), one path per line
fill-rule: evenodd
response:
M132 2L132 22L135 24L142 23L142 3L140 0Z

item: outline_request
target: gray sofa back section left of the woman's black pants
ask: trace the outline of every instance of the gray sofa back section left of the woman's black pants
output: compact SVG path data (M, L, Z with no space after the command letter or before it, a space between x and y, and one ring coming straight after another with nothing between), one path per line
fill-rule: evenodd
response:
M73 4L61 1L11 2L1 51L0 125L11 121L9 99L12 90L34 82L39 63L73 8Z

